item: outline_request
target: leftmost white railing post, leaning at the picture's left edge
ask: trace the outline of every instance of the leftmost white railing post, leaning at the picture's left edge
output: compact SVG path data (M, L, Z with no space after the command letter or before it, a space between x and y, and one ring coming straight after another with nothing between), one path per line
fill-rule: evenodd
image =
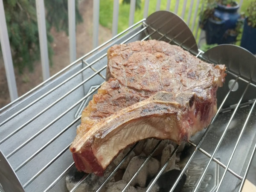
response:
M0 0L0 42L3 53L4 67L6 70L7 84L11 101L17 99L17 86L12 64L12 54L6 26L6 17L3 8L3 0Z

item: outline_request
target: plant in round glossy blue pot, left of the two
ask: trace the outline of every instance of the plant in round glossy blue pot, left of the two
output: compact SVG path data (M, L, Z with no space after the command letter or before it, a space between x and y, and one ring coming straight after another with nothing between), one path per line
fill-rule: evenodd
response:
M206 32L207 44L230 44L236 41L236 23L240 15L233 0L207 0L200 13L200 26Z

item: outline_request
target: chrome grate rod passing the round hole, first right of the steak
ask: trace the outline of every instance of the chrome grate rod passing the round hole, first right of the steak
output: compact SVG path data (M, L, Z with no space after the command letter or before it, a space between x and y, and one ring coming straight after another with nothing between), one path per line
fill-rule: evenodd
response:
M198 53L198 55L200 55ZM189 166L189 163L191 162L191 160L193 159L193 157L195 156L197 150L200 148L201 144L203 143L204 141L204 138L206 137L206 134L209 132L209 128L211 127L211 125L213 124L213 122L215 121L215 119L217 118L218 116L218 113L221 111L221 108L222 106L224 105L225 101L227 100L227 97L229 96L231 90L233 89L233 87L235 86L236 82L238 80L238 77L236 78L236 80L233 82L232 86L230 87L230 90L228 91L227 95L224 97L223 101L221 102L221 105L220 107L218 108L218 111L216 112L215 116L213 117L212 121L210 122L210 125L208 125L206 131L204 132L201 140L199 141L197 147L195 148L195 151L192 153L192 155L189 157L189 160L186 162L186 165L183 167L182 171L180 172L180 175L177 177L175 183L173 184L172 186L172 189L175 189L175 187L177 186L177 183L179 182L180 178L182 177L182 175L184 174L184 172L186 171L186 168Z

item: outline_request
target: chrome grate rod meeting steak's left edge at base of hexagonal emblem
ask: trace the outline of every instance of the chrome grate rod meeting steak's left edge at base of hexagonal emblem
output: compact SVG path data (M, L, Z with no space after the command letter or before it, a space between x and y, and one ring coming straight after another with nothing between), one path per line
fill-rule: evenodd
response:
M51 140L49 140L44 146L42 146L40 149L38 149L34 154L32 154L29 158L27 158L23 163L21 163L17 168L14 170L15 172L19 171L23 166L25 166L29 161L31 161L36 155L38 155L41 151L43 151L47 146L49 146L53 141L55 141L58 137L61 136L65 131L67 131L70 127L72 127L77 121L79 121L81 118L81 115L76 118L73 122L71 122L67 127L65 127L61 132L59 132L55 137L53 137Z

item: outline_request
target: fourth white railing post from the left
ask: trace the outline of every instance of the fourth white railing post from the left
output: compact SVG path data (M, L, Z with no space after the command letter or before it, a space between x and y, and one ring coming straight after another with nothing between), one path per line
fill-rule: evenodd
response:
M99 44L99 0L93 0L93 48Z

